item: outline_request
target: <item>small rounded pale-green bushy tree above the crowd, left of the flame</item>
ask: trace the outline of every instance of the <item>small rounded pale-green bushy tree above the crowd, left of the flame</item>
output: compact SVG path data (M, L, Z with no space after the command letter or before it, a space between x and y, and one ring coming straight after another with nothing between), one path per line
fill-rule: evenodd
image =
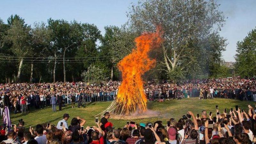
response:
M102 81L106 81L106 69L97 65L90 65L87 71L84 71L81 75L85 82L89 84L99 84Z

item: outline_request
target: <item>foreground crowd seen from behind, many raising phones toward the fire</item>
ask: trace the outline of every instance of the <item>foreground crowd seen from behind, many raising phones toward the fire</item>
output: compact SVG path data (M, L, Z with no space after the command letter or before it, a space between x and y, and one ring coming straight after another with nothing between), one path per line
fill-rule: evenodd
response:
M200 115L188 111L179 120L127 121L121 128L108 122L108 112L90 126L81 117L72 118L68 124L70 116L64 114L56 126L37 124L26 130L21 119L10 130L2 126L0 144L252 144L256 142L256 114L251 105L248 109L246 113L237 106L220 112L216 106L216 115L205 110Z

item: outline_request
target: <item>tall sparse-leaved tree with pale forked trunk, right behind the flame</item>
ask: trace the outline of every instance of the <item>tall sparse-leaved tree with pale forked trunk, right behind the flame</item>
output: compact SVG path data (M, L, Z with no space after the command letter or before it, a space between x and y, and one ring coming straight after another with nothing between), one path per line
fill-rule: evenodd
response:
M139 32L160 26L165 40L160 64L170 76L183 77L200 67L197 56L204 50L200 42L223 26L225 18L218 7L214 0L139 0L128 12L129 26Z

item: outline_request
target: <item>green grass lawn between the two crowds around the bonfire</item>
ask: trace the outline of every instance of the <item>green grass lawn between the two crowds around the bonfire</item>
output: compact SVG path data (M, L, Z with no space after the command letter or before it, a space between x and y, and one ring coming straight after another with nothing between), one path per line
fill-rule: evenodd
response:
M95 115L102 112L106 109L111 102L93 102L88 104L85 108L71 108L70 105L67 107L62 107L62 111L52 112L52 107L48 107L46 109L32 109L30 113L27 114L11 114L12 124L17 124L19 119L23 119L25 121L25 127L35 127L36 124L43 123L51 123L57 125L58 121L62 119L64 113L68 113L71 116L68 119L68 124L70 124L71 119L76 116L80 116L87 120L86 126L95 125ZM215 116L215 105L219 106L220 112L224 111L224 108L227 108L227 111L230 108L235 109L235 105L238 105L239 108L243 108L246 112L248 112L248 103L250 103L253 107L253 102L248 101L239 101L239 100L229 100L229 99L207 99L207 100L198 100L198 98L188 98L182 100L170 100L164 102L148 102L148 109L159 112L157 117L152 118L144 118L144 119L136 119L133 120L136 123L147 123L154 122L156 120L161 120L163 123L167 123L170 118L179 119L182 115L185 115L187 111L192 111L195 115L200 114L204 109L209 113L212 111L213 116ZM58 107L57 107L58 110ZM132 118L131 118L132 120ZM123 127L126 124L127 120L117 120L117 119L109 119L114 124L114 127Z

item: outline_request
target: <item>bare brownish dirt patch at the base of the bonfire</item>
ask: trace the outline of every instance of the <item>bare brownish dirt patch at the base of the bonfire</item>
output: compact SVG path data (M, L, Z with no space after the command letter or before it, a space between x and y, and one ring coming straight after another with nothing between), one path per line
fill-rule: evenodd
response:
M110 114L110 119L120 119L120 120L130 120L130 119L143 119L143 118L150 118L150 117L157 117L160 115L160 112L153 111L148 109L146 112L138 113L135 112L132 115L116 115L116 114Z

